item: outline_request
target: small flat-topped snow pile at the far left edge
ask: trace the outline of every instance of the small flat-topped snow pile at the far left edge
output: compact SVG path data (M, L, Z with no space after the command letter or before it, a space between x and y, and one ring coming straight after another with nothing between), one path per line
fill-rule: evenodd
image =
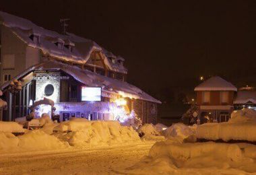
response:
M24 133L22 125L17 122L2 122L0 121L0 132L3 133Z

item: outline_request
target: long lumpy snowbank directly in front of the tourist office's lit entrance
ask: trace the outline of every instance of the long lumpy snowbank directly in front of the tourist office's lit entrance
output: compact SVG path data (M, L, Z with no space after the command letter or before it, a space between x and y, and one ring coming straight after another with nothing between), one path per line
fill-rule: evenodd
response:
M117 121L88 121L72 118L53 129L55 136L75 147L113 145L140 141L132 127L121 126Z

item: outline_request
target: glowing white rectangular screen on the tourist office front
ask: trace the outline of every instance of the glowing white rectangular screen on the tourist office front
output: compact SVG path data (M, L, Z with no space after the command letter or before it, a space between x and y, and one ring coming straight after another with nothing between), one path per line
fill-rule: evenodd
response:
M101 88L82 87L82 101L101 101Z

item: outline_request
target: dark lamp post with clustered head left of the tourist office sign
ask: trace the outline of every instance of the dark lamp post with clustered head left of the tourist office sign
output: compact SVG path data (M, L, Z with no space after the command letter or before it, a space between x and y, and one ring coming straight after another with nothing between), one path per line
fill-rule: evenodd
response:
M13 114L11 120L15 121L15 108L16 108L16 94L22 90L22 83L14 79L9 83L8 91L13 95Z

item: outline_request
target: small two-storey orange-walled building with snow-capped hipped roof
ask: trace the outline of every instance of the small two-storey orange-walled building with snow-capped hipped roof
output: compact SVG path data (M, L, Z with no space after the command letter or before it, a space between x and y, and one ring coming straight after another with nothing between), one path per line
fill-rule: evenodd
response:
M211 77L195 88L199 106L197 123L228 121L234 110L234 92L237 89L221 77Z

